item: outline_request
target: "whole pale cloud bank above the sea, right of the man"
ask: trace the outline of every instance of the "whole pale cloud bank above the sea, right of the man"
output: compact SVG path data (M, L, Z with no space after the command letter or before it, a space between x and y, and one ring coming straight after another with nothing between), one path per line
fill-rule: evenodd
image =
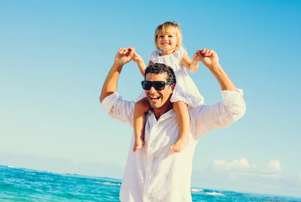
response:
M265 164L265 165L264 165ZM214 160L207 168L194 173L192 182L201 187L229 189L234 187L263 191L269 190L270 194L286 193L300 195L301 171L287 173L281 168L279 159L272 159L263 164L249 163L245 157L229 160ZM246 189L245 191L247 191ZM285 191L284 191L285 190ZM297 190L297 191L295 191Z

